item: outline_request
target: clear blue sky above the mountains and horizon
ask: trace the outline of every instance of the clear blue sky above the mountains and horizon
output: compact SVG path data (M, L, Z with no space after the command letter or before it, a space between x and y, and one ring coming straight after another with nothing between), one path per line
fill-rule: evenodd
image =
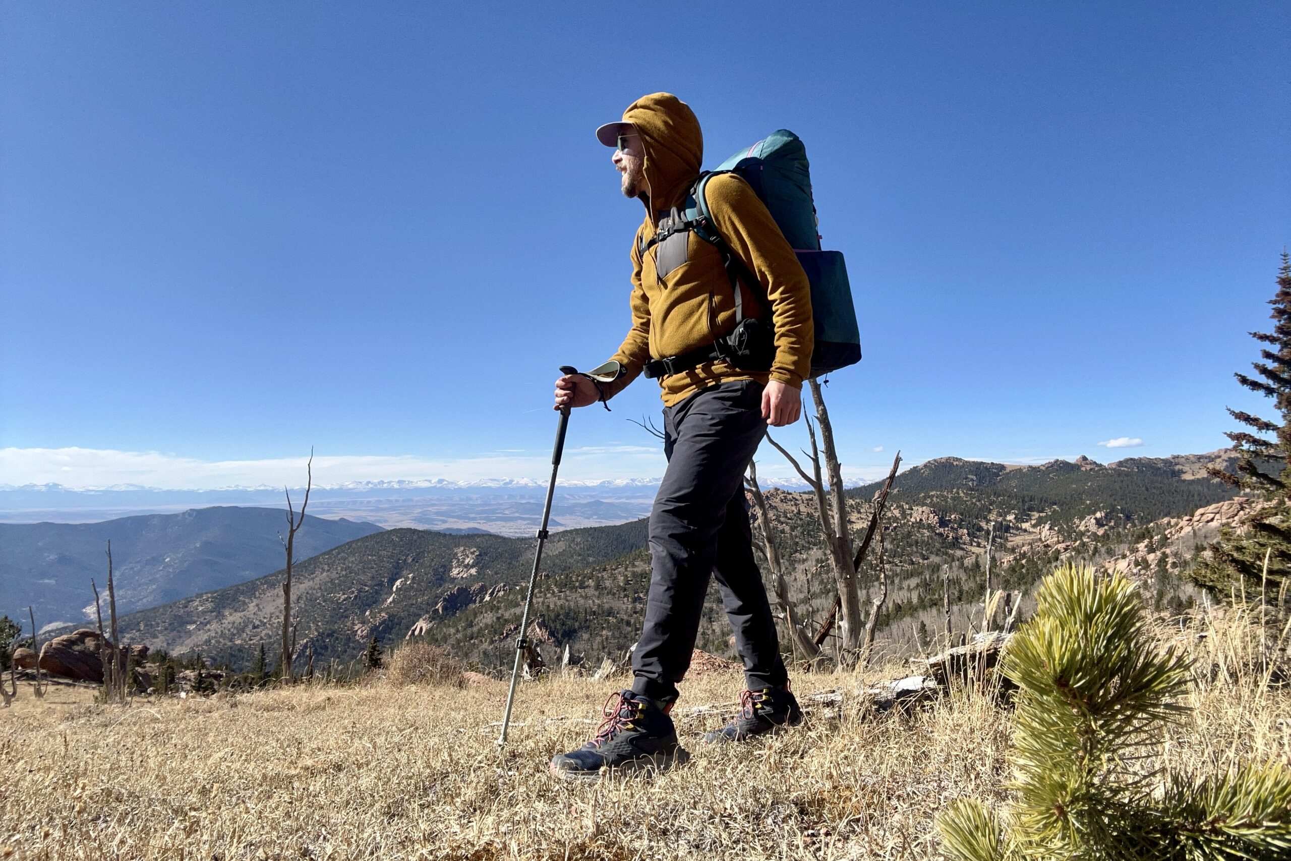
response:
M310 445L324 483L541 478L556 365L627 324L640 208L591 130L655 90L709 165L806 141L852 476L1219 448L1263 407L1232 373L1291 236L1288 36L1281 3L5 4L0 483L276 483ZM658 475L653 383L612 405L568 474Z

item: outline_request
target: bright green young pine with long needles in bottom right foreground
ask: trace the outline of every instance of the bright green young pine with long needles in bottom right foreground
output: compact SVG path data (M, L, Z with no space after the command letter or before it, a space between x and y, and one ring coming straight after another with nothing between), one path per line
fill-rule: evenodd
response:
M937 818L962 861L1291 857L1291 771L1243 765L1223 776L1136 768L1159 744L1189 661L1155 648L1133 585L1065 565L1010 643L1017 683L1010 751L1013 800L995 812L959 799Z

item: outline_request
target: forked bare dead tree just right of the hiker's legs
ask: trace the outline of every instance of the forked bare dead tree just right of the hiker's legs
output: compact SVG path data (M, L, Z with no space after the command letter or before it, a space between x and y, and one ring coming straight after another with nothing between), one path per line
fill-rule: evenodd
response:
M812 471L808 474L782 445L767 435L767 441L793 465L798 475L807 483L816 496L816 510L820 515L820 528L825 537L825 547L829 551L829 560L834 569L835 598L834 607L821 623L820 630L812 642L818 647L829 636L835 620L842 616L839 625L842 630L842 645L839 658L843 663L852 663L860 657L864 629L861 621L861 594L860 571L869 551L875 531L883 520L883 509L887 505L888 494L892 491L892 481L901 465L901 452L892 458L892 470L884 487L874 494L870 523L865 531L861 546L853 552L852 536L847 520L847 497L843 494L843 471L838 461L838 449L834 445L834 427L829 421L829 410L825 407L825 398L821 394L820 383L808 380L812 401L816 405L816 425L820 426L820 445L816 444L816 427L811 418L807 421L807 435L811 439L811 454L806 454L811 461ZM824 457L824 470L821 458Z

